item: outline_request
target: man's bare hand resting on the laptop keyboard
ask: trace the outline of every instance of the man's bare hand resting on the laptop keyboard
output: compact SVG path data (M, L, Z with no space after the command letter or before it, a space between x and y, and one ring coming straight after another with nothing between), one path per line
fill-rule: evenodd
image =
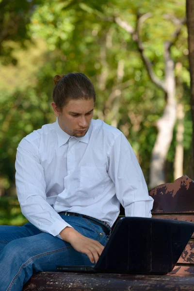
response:
M86 238L72 227L66 226L60 232L60 236L64 241L69 242L76 251L86 254L91 263L97 262L104 249L101 243Z

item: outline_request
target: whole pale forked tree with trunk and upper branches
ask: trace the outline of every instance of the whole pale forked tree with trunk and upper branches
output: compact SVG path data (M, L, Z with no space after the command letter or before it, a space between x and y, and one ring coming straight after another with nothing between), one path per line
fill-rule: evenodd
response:
M143 62L146 66L148 75L151 81L160 89L162 89L166 98L166 105L162 117L157 121L158 135L153 147L152 158L150 163L150 179L149 186L155 187L165 182L165 161L169 147L173 139L173 130L176 122L176 80L175 80L175 62L172 58L171 48L176 43L178 35L181 32L183 24L186 19L177 19L174 16L174 22L177 24L176 29L172 33L170 39L164 42L164 79L163 81L157 77L154 72L153 65L146 56L146 51L141 37L141 26L147 18L151 17L151 13L140 15L137 11L137 20L135 28L133 28L127 21L123 21L119 16L114 17L114 21L129 32L132 39L137 44L137 48L141 54Z

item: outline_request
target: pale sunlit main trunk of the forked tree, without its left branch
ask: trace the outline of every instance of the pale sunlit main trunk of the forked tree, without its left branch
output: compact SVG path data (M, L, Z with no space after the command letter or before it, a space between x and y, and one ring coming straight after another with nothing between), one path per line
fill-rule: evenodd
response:
M166 106L162 117L157 122L158 135L152 150L150 163L149 187L164 184L164 166L166 156L173 139L176 122L175 72L170 56L170 43L164 44Z

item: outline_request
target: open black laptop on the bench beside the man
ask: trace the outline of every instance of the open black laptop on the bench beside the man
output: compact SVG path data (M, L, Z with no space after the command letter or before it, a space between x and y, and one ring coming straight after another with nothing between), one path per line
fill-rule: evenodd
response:
M57 266L57 270L165 275L173 270L193 232L192 222L122 217L96 265Z

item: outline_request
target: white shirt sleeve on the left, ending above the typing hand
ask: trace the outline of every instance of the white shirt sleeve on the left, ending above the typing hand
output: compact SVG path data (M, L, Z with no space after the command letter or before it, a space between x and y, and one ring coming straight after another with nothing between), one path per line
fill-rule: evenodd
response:
M16 190L23 215L40 230L61 238L61 230L72 227L47 202L38 147L25 139L17 147Z

